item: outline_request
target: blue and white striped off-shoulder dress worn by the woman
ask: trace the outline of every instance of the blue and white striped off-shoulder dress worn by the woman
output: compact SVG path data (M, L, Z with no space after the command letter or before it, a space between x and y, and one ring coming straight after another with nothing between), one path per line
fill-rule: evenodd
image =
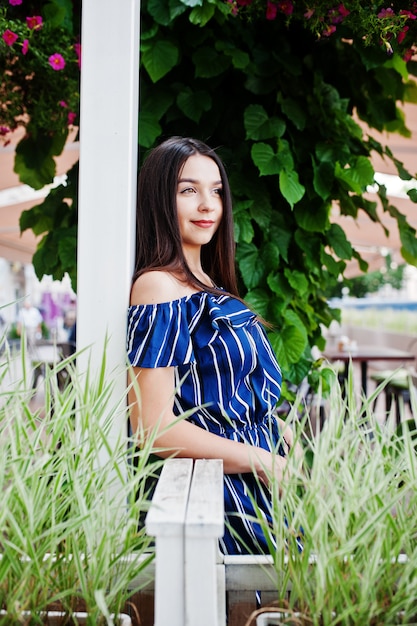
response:
M201 291L129 308L127 350L135 367L175 368L174 413L221 437L284 455L273 415L281 371L265 330L238 299ZM226 554L267 552L251 519L254 502L269 520L270 496L252 473L224 482ZM258 511L259 515L259 511Z

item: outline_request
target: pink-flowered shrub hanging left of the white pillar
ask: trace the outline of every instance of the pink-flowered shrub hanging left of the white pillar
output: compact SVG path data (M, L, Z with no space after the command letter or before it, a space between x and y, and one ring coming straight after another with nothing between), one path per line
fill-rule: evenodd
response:
M59 154L68 125L76 123L79 112L81 46L73 15L55 0L4 4L0 8L0 137L7 142L9 131L18 125L36 136L57 133ZM77 9L74 3L73 11ZM42 184L40 180L35 186Z

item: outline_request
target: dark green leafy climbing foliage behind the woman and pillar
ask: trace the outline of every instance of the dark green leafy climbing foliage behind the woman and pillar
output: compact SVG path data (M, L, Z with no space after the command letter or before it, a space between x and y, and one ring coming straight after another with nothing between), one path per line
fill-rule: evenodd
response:
M333 24L333 3L315 3L310 19L305 2L275 3L275 19L266 19L269 5L264 0L142 0L138 143L140 161L173 134L196 136L218 149L235 200L242 295L271 322L284 376L297 383L311 367L311 346L324 345L323 326L338 315L327 304L329 289L352 258L366 271L342 229L332 223L332 207L352 219L365 212L382 228L377 203L363 195L374 182L372 154L392 159L403 179L415 174L364 134L354 114L371 129L408 134L398 104L417 101L417 64L409 58L417 20L410 17L414 2L345 2L336 7L349 13L325 36ZM388 5L392 15L378 18ZM12 11L19 9L15 17L22 19L29 7L44 15L45 29L48 7L54 15L53 37L76 41L80 3L70 0L8 7L0 27L7 26L5 20L10 23ZM15 51L0 43L0 69L4 75L12 68L8 79L19 83L26 97L25 65L17 72ZM48 46L46 39L38 43L40 50ZM28 61L29 53L24 64ZM75 63L66 67L74 69ZM39 76L40 102L51 85L50 68L39 60L33 72ZM55 100L69 101L78 78L67 74ZM3 94L8 93L5 84L3 78ZM51 164L62 150L67 120L45 124L47 116L31 101L25 104L27 117L20 123L28 134L18 146L16 171L23 182L39 188L52 180L52 168L42 164ZM45 100L44 113L53 107ZM0 124L11 126L13 107L6 113L9 119L3 106ZM76 191L74 168L67 187L53 190L21 218L22 230L44 234L33 259L38 275L60 278L68 271L73 284ZM417 201L415 191L409 195ZM384 187L379 205L396 219L404 259L416 265L416 233Z

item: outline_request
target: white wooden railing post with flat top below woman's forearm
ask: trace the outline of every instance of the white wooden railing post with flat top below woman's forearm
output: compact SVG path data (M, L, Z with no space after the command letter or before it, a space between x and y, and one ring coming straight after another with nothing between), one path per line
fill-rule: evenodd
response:
M146 518L155 537L155 626L229 626L276 597L269 556L225 556L221 460L169 459Z

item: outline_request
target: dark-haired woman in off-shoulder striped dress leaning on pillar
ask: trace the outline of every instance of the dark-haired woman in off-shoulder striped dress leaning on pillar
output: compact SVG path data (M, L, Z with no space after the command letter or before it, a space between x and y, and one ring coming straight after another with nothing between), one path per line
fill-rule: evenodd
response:
M278 363L238 296L226 172L200 141L172 137L141 168L127 344L140 391L133 430L156 429L162 457L223 459L220 547L266 552L253 501L268 519L268 481L283 479L291 431L274 415Z

